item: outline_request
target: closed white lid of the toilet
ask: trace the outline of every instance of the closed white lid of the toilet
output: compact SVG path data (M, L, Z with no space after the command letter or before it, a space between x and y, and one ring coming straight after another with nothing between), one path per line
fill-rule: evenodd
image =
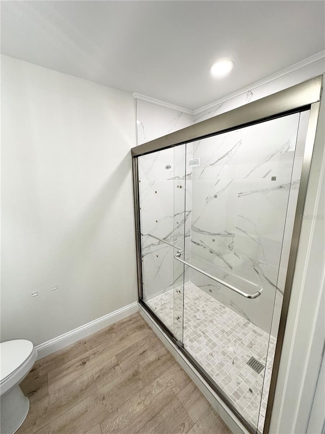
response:
M31 355L34 345L30 340L15 339L0 343L0 382L14 373Z

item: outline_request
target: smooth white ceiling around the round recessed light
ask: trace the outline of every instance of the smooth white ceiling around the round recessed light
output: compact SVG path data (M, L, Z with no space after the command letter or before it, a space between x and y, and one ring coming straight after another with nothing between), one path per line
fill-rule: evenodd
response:
M325 48L323 1L2 1L2 53L197 109ZM215 80L210 65L235 62Z

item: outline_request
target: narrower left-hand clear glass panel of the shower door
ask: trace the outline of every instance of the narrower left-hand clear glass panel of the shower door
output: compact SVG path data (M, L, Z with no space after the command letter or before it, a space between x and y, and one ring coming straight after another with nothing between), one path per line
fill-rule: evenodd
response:
M142 299L181 345L185 267L174 256L184 258L190 231L186 144L140 156L138 171Z

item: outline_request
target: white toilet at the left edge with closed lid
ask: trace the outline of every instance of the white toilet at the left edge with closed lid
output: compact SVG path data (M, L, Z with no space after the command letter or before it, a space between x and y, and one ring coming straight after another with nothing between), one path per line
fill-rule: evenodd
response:
M37 351L29 340L16 339L0 343L1 434L12 434L25 420L29 401L19 384L37 359Z

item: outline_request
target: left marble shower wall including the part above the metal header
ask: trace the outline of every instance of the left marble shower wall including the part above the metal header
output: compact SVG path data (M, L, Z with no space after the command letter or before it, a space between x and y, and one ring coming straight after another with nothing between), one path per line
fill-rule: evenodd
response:
M141 98L136 98L136 108L138 144L193 124L192 113ZM187 146L188 155L190 148ZM191 180L187 169L185 190L185 164L185 146L139 158L140 212L142 233L155 235L183 249L185 245L186 256L183 258L189 260ZM170 169L165 168L168 165ZM175 253L176 250L166 244L142 237L145 300L183 281L184 267L174 260ZM189 270L185 268L185 281L188 279ZM175 314L178 310L182 311L175 309Z

